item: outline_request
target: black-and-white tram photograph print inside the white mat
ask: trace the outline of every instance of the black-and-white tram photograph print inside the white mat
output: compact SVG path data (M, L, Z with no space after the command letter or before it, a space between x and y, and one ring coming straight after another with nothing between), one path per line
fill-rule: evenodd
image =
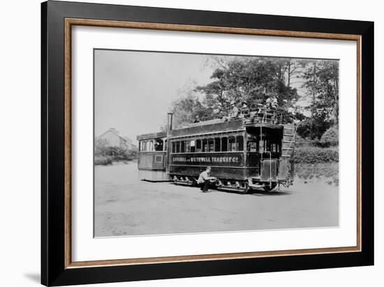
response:
M339 227L339 60L94 49L94 236Z

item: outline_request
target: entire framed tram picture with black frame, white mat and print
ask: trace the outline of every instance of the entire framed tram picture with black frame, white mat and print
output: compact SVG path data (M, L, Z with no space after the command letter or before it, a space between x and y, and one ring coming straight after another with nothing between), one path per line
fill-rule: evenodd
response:
M42 284L374 264L373 22L41 8Z

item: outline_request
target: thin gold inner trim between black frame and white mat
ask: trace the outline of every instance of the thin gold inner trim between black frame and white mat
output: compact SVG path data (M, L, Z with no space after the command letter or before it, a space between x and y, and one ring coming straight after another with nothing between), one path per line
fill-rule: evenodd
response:
M357 245L353 247L330 247L315 249L293 249L293 250L274 250L274 251L255 251L228 254L201 254L191 256L165 256L152 258L127 258L112 259L101 261L72 261L71 252L71 28L73 25L79 26L103 26L115 28L131 29L155 29L168 31L193 31L205 33L232 33L257 36L279 36L295 38L320 38L332 40L355 40L357 42ZM361 36L337 33L317 33L300 31L280 31L267 29L245 29L223 26L195 26L183 24L161 24L149 22L123 22L112 20L89 20L89 19L65 19L64 30L64 164L65 164L65 267L95 267L103 265L132 265L150 263L169 263L181 261L209 261L234 258L257 258L266 256L288 256L304 254L326 254L361 251Z

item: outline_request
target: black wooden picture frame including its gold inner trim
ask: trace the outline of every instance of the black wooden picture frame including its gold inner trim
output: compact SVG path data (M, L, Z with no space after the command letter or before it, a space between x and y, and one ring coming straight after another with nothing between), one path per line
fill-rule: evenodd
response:
M41 6L41 283L45 286L374 264L374 23L47 1ZM104 26L357 42L357 245L71 261L71 27Z

